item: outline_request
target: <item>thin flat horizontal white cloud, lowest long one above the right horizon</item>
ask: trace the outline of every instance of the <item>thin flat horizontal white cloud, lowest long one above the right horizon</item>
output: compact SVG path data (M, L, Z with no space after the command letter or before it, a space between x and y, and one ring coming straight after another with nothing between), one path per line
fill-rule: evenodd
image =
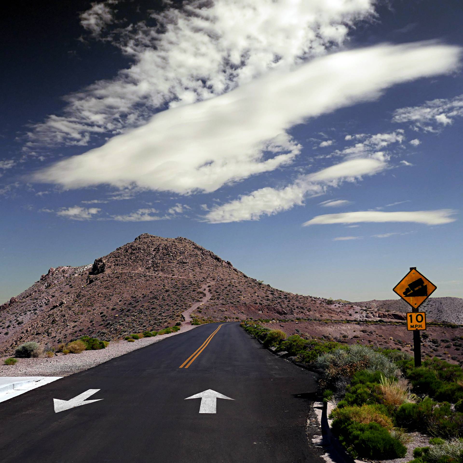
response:
M318 215L302 225L353 224L359 222L413 222L425 225L441 225L455 222L456 219L452 217L455 213L457 211L452 209L409 212L358 211Z

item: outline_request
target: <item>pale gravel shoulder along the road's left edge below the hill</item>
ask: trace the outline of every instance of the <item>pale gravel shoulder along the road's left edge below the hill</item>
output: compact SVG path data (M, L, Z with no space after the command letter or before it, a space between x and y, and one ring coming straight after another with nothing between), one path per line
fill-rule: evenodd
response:
M170 336L184 333L196 328L197 325L183 324L180 331L152 338L137 339L133 343L127 341L112 341L106 349L84 350L80 354L56 354L55 357L19 358L15 365L4 365L0 358L0 376L69 376L79 371L96 367L115 357L127 354L132 350L141 349L157 343Z

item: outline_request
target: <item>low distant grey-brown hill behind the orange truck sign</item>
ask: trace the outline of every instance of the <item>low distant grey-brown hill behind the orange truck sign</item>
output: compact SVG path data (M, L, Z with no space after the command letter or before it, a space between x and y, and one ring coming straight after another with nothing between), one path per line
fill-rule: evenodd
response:
M410 306L403 299L367 300L354 302L356 306L379 312L411 312ZM446 321L463 325L463 299L460 297L430 297L419 307L426 312L426 319Z

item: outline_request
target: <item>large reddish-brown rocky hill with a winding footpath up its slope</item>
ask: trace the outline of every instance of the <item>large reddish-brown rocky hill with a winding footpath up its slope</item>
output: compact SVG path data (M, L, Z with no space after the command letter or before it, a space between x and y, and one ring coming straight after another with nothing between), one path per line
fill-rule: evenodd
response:
M441 299L457 298L435 298ZM144 233L93 264L51 268L1 305L0 356L25 341L56 346L82 335L112 340L178 321L305 319L329 330L325 319L405 320L403 307L382 302L388 301L350 303L281 291L187 238ZM447 312L454 321L454 310Z

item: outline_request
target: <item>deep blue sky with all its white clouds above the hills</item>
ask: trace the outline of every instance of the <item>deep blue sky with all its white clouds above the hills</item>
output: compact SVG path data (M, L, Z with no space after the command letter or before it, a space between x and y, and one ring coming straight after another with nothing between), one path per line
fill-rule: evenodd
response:
M463 297L460 2L11 8L0 302L144 232L300 294L416 266Z

